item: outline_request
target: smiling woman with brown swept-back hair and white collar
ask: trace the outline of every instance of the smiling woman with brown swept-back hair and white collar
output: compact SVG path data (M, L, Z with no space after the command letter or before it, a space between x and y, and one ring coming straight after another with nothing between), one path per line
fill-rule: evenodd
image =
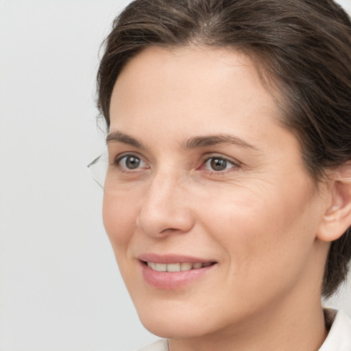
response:
M332 0L139 0L98 73L104 224L145 350L351 350L351 23Z

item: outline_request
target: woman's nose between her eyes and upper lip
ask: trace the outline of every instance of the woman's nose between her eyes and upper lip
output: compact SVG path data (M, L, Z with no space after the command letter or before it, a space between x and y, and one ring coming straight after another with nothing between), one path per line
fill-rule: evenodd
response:
M149 184L136 224L152 237L186 233L193 228L189 191L168 173L155 176Z

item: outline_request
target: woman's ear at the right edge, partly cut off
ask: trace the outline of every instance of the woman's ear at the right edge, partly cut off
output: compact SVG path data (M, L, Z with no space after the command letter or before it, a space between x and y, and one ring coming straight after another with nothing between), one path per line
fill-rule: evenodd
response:
M351 226L351 162L334 172L332 178L331 202L317 232L317 238L327 242L339 239Z

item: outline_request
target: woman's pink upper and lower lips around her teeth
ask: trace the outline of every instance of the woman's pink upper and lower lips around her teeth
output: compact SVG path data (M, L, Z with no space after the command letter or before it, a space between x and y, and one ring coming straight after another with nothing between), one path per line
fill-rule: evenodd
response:
M154 269L147 266L145 262L154 263L206 263L214 262L210 260L204 260L203 258L195 258L191 256L160 256L156 254L143 254L138 256L140 261L140 266L143 272L143 278L148 285L155 287L156 289L179 289L185 287L190 283L206 276L210 271L212 271L217 264L210 265L208 267L202 267L198 269L191 269L189 271L177 271L177 272L167 272L167 271L155 271Z

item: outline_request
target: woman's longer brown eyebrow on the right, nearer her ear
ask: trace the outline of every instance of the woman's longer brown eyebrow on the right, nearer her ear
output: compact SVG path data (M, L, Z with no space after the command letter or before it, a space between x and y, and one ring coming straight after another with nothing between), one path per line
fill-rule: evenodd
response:
M239 136L231 134L214 134L207 136L194 136L184 143L185 149L195 149L197 147L208 147L214 145L237 145L239 147L248 147L255 151L260 151L254 145L247 143Z

